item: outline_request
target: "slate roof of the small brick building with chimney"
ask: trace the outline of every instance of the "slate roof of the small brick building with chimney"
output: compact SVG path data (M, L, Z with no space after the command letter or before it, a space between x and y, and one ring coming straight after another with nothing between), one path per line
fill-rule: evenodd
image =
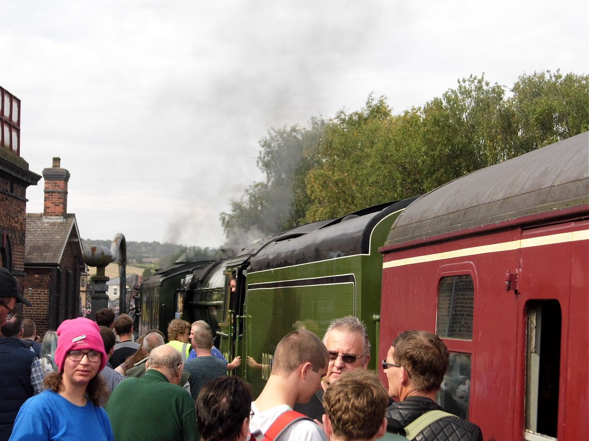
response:
M27 213L27 237L25 240L25 265L38 263L59 264L68 240L77 239L82 255L78 224L74 214L44 216Z

